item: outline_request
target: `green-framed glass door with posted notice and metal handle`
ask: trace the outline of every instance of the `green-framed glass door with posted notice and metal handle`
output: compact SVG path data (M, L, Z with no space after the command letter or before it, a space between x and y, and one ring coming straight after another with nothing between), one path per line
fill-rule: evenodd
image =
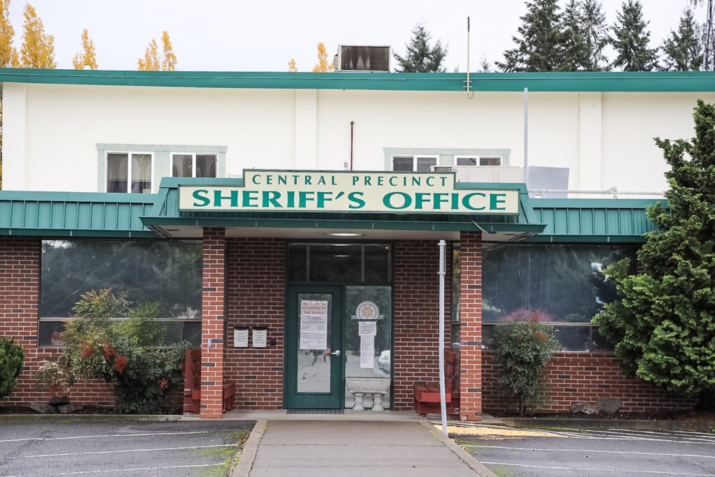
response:
M286 408L343 407L342 287L294 285L287 291Z

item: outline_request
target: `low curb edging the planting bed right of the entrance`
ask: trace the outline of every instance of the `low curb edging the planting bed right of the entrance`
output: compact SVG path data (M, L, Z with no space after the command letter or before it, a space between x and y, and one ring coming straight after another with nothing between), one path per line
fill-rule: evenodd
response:
M623 429L631 431L691 431L711 433L714 421L629 421L626 419L501 418L505 426L519 428Z

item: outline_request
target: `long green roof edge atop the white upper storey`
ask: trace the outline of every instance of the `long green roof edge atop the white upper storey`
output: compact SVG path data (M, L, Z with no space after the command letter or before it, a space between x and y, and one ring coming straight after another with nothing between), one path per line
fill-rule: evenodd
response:
M0 82L111 86L465 91L466 73L137 72L0 68ZM715 72L471 73L483 92L715 92Z

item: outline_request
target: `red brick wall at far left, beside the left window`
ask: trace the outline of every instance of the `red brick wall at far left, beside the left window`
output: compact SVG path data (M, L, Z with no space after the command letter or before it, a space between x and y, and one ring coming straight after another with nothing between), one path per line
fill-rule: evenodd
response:
M57 348L37 347L40 240L0 237L0 337L13 338L25 350L15 392L0 405L28 405L50 395L35 389L34 372L42 361L56 358ZM74 403L111 406L112 394L102 381L79 381L69 397Z

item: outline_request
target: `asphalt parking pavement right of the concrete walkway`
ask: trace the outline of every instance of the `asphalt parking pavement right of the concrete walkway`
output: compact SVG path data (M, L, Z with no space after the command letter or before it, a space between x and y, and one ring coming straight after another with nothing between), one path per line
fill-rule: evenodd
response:
M518 431L455 436L498 476L715 476L715 434L648 431Z

